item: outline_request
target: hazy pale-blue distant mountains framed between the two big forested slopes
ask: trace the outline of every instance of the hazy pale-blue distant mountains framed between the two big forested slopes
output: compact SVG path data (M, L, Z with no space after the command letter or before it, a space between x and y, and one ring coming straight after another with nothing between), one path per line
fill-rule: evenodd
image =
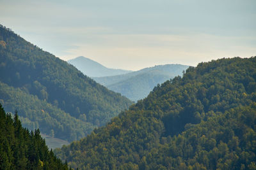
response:
M98 62L85 57L77 57L76 59L68 60L68 62L84 74L91 76L93 80L101 85L122 94L131 99L131 101L138 101L147 97L157 84L161 84L178 75L182 76L182 72L189 67L181 64L165 64L147 67L139 71L126 71L126 73L123 71L122 73L120 70L108 69ZM109 72L113 76L106 76ZM105 76L93 76L96 74Z

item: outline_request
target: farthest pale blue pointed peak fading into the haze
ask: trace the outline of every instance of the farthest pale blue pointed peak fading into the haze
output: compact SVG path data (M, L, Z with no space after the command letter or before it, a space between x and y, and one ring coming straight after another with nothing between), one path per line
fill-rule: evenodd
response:
M75 59L68 60L67 62L77 67L77 69L82 71L82 73L90 77L115 76L131 72L124 69L109 69L108 67L99 64L99 62L95 62L83 56L76 57Z

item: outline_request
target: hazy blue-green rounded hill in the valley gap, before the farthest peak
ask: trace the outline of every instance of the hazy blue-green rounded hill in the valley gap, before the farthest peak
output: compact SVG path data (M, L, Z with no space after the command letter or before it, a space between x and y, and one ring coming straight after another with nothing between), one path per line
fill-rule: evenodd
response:
M181 64L166 64L148 67L132 73L93 79L105 85L108 89L128 97L132 101L138 101L147 97L157 84L182 75L182 71L187 68L188 66Z

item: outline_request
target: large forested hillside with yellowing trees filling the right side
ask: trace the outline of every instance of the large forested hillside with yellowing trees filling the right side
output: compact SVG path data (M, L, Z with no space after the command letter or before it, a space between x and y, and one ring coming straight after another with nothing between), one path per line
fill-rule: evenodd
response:
M189 67L54 152L81 169L256 169L256 57Z

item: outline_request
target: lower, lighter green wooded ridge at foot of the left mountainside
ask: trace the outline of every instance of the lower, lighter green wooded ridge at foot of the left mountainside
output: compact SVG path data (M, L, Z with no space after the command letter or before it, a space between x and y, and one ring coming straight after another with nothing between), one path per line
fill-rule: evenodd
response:
M95 125L71 117L60 108L38 99L37 96L1 82L0 96L3 97L6 110L19 109L22 125L28 129L40 127L40 131L49 136L54 134L56 138L74 141L83 138L95 128Z

